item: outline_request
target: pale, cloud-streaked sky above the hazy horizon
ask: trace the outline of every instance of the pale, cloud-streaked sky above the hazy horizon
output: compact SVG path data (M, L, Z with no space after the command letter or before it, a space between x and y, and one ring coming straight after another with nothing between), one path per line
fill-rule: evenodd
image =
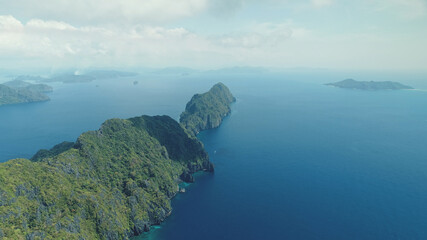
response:
M0 68L427 70L427 0L0 0Z

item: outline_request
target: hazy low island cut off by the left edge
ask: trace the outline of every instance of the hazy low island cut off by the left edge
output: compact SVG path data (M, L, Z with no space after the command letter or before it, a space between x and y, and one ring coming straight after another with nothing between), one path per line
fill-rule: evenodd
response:
M52 91L52 87L46 84L32 84L22 80L5 82L0 84L0 106L48 101L50 98L45 93Z

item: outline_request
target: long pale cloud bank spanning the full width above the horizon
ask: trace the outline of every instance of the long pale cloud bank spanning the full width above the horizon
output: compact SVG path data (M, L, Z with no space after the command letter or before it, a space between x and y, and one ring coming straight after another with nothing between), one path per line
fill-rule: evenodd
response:
M238 31L207 36L161 24L81 26L42 18L21 22L5 15L0 16L0 65L425 68L426 34L413 38L370 32L325 33L288 20L252 22Z

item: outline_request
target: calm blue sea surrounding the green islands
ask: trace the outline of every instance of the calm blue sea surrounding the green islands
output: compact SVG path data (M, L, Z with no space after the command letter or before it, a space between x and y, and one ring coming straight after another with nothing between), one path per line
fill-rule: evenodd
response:
M419 90L324 86L345 78ZM138 84L133 82L137 80ZM378 72L141 74L54 84L51 101L0 107L0 162L75 141L109 118L175 119L194 93L237 98L199 134L215 173L135 240L427 239L427 75Z

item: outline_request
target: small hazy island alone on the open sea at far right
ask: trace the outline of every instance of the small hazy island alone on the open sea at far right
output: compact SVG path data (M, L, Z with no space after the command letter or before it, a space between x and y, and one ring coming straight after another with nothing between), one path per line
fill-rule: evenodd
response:
M354 79L345 79L335 83L327 83L325 85L339 87L339 88L351 88L351 89L362 89L362 90L400 90L400 89L413 89L413 87L403 85L399 82L374 82L374 81L356 81Z

